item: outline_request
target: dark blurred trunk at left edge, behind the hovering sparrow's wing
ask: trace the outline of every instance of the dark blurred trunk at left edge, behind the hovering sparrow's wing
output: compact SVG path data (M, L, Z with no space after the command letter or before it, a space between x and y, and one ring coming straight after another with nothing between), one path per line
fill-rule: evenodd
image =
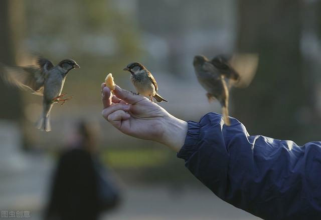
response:
M11 0L0 1L0 62L14 65L15 64L15 47L13 41L13 29L19 27L12 26L12 10L10 9ZM19 13L15 11L15 13ZM0 80L1 104L0 119L10 119L19 121L22 117L21 95L17 88L13 88Z

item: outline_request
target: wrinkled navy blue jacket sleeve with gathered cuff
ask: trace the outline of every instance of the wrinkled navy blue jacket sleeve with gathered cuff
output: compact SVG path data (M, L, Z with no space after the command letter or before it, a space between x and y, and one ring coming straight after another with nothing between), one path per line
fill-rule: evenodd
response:
M177 156L221 199L264 219L321 219L321 142L250 136L216 113L188 124Z

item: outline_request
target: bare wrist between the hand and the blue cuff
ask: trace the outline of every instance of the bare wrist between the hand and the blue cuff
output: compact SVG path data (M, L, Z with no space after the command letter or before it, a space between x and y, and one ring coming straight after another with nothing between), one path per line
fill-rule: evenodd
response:
M186 121L170 115L165 120L164 132L159 142L170 147L175 152L179 152L184 145L187 129L188 123Z

